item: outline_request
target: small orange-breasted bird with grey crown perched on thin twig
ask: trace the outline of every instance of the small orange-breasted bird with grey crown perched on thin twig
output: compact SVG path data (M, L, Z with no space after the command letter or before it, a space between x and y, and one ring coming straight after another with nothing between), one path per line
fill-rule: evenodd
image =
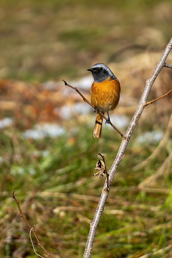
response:
M92 72L93 83L91 86L91 104L94 106L96 112L105 112L114 110L120 97L120 83L108 66L103 63L98 63L92 66L87 71ZM98 113L96 115L96 122L94 126L93 136L95 138L101 137L103 117ZM111 123L109 113L108 120L105 122Z

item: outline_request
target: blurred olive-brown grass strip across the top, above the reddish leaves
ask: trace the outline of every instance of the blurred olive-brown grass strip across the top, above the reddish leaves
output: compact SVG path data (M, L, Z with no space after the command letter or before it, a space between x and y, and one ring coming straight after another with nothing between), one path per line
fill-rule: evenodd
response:
M164 47L171 37L171 11L170 0L2 0L0 77L76 78L93 60L107 63L121 47Z

